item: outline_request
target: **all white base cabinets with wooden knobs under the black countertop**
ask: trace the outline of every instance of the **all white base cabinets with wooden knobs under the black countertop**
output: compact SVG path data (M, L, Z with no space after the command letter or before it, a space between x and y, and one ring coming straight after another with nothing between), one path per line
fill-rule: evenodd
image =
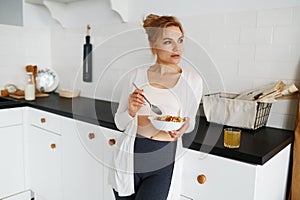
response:
M114 200L108 175L122 132L32 108L0 110L0 120L0 199ZM180 200L284 200L290 149L264 165L186 149Z

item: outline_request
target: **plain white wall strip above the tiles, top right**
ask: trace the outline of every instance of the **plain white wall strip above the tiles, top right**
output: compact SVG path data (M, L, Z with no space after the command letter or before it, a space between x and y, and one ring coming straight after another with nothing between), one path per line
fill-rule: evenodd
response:
M188 17L296 6L300 6L298 0L164 0L151 3L147 0L130 0L128 18L136 21L152 12Z

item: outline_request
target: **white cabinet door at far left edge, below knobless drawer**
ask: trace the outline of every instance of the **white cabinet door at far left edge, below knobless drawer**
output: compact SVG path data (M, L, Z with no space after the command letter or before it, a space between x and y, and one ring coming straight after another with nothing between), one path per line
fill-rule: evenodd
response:
M22 126L0 127L0 199L24 190Z

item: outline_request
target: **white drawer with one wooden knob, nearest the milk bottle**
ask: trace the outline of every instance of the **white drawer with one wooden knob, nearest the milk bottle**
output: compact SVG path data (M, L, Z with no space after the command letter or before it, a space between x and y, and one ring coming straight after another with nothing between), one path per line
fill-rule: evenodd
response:
M60 119L58 115L29 109L28 120L30 125L60 134Z

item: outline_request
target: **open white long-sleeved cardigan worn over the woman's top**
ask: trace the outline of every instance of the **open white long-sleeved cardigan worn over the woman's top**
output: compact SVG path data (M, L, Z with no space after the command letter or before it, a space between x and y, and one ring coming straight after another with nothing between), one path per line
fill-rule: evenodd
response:
M119 107L115 114L116 126L119 130L124 131L124 133L120 136L119 142L114 147L113 167L110 170L109 183L120 196L130 196L135 193L133 157L134 141L137 132L137 115L135 117L129 115L128 97L135 89L132 82L139 87L147 85L147 70L148 67L141 67L129 73L125 81L127 85L124 85ZM178 99L178 104L180 105L179 115L190 118L190 127L186 132L191 132L195 127L195 118L202 97L202 78L197 73L183 70L178 82L171 88L171 91L173 97L176 96ZM151 92L148 94L148 91L147 93L145 91L145 94L152 96ZM159 99L156 100L153 98L153 104L161 102ZM167 200L177 200L180 198L182 154L182 140L178 138L175 165Z

